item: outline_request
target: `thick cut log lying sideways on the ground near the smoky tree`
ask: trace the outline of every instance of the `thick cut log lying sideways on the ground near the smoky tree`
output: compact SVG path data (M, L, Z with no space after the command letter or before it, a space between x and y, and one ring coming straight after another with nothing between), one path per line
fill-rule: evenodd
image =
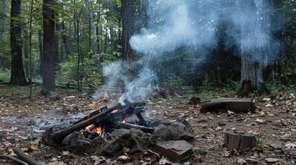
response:
M201 102L201 113L208 111L254 112L255 103L251 98L216 98Z

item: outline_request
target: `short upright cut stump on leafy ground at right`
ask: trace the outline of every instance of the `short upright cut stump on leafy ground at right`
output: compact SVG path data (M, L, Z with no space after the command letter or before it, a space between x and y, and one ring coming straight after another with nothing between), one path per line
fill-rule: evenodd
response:
M228 149L248 149L255 147L256 137L250 133L225 131L224 142Z

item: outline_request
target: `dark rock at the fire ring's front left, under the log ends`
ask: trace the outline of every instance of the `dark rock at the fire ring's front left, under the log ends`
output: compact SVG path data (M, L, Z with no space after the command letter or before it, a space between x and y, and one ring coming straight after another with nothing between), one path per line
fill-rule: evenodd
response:
M71 153L95 155L95 149L92 148L92 144L78 132L67 135L63 139L62 146L66 146L66 150Z

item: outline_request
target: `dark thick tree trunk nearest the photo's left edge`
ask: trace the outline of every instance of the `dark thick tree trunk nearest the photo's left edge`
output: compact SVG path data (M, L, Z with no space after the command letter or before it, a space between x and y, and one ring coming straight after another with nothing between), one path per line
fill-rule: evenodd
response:
M21 14L21 0L11 1L10 12L10 47L11 47L11 76L10 84L28 85L25 71L23 70L23 52L21 42L21 25L19 22Z

